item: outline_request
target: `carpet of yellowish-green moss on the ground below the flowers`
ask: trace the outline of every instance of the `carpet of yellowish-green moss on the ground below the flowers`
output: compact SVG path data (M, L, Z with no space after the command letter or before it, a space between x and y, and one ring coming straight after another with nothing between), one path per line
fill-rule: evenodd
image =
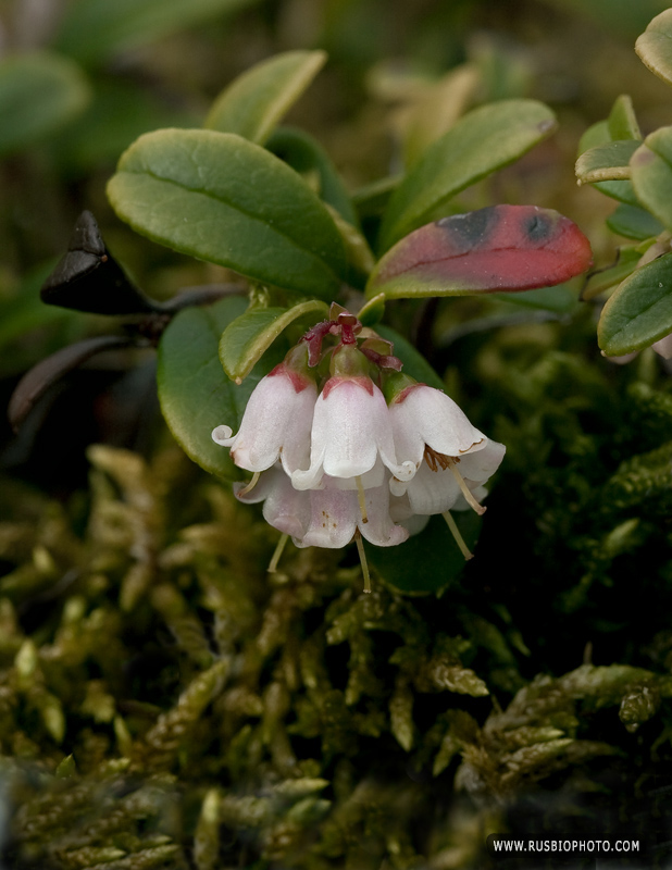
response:
M627 812L671 760L672 401L614 371L491 368L507 460L440 597L363 595L340 552L266 574L275 533L172 446L91 449L79 534L13 485L12 866L476 868L530 795Z

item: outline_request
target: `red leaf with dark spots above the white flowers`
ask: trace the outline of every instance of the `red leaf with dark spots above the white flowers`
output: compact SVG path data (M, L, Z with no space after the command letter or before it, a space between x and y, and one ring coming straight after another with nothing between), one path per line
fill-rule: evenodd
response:
M561 284L593 263L576 224L552 209L493 206L421 226L381 259L369 297L465 296Z

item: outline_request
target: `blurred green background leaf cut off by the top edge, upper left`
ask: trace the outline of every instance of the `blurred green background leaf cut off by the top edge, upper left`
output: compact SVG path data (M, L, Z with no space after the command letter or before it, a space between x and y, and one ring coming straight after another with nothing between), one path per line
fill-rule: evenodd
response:
M257 0L75 0L55 46L83 63L101 64L119 51L233 14Z

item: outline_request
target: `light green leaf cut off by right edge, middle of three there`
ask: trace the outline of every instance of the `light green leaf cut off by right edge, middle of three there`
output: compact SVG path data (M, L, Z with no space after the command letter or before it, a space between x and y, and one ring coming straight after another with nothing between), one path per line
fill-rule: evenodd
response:
M672 127L660 127L631 159L632 183L643 206L672 229Z

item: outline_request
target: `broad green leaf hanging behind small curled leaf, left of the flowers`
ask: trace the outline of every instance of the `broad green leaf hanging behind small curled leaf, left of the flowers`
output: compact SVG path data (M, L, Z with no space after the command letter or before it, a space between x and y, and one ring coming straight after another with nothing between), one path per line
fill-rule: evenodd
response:
M248 399L276 360L266 358L241 386L222 371L220 336L247 307L241 297L228 297L203 308L181 311L159 344L159 401L169 428L187 456L225 480L239 480L240 471L228 450L211 437L223 423L237 431Z

